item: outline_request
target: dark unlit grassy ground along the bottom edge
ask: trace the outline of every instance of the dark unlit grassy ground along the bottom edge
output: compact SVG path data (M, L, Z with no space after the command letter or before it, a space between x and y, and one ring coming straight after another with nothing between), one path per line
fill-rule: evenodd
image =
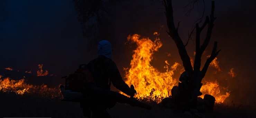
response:
M180 118L172 110L161 104L152 104L152 110L117 103L111 110L112 118ZM256 103L215 104L213 113L204 114L206 118L255 118ZM0 92L0 118L2 117L51 117L85 118L79 103L61 101L60 98L39 97L34 94L16 95Z

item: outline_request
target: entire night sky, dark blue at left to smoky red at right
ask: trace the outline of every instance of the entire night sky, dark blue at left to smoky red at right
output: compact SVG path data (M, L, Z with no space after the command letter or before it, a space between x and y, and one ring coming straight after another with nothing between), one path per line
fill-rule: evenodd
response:
M194 10L190 17L184 16L183 7L189 0L173 0L175 24L179 21L179 33L185 42L188 30L202 12ZM200 2L202 3L202 2ZM216 0L215 26L212 38L205 55L210 55L213 41L218 41L221 52L217 56L221 72L209 67L206 77L215 80L231 90L228 101L255 101L256 91L256 8L254 0ZM140 5L138 5L140 4ZM140 6L140 7L138 7ZM205 1L209 14L210 1ZM135 2L134 9L120 8L118 20L113 25L115 35L102 40L110 40L114 49L113 61L116 62L124 77L124 67L129 67L134 47L125 44L129 34L138 33L154 40L153 33L160 33L163 47L155 53L152 65L161 70L164 60L171 64L182 64L175 43L168 37L166 18L161 2ZM202 5L200 6L202 7ZM199 8L200 10L201 8ZM13 74L25 75L26 79L39 84L57 86L63 84L62 76L71 74L79 64L88 63L97 57L97 43L94 49L88 49L88 41L82 36L81 25L76 19L77 14L72 0L1 0L0 1L0 74L8 76L3 68L12 67ZM100 40L100 39L97 39ZM193 57L194 43L186 47ZM166 53L170 53L171 57ZM202 58L204 64L205 57ZM38 64L43 64L43 70L49 74L45 78L35 77ZM182 67L180 67L181 69ZM236 77L228 75L234 68ZM19 72L18 72L19 71ZM31 75L25 73L31 71ZM174 75L179 78L179 71ZM11 73L12 74L12 73ZM15 79L15 78L13 78ZM21 78L16 78L21 79ZM36 80L35 80L36 79ZM44 80L45 79L45 80ZM46 81L49 81L48 83Z

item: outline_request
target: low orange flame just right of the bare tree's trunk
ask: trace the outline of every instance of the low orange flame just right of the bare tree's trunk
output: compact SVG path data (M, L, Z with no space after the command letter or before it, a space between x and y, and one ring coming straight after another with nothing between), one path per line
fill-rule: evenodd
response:
M223 88L226 91L228 91L227 88ZM215 102L216 103L223 103L224 100L229 97L229 92L226 92L226 95L221 95L220 93L220 88L219 88L219 83L217 83L217 80L215 82L206 82L205 84L203 84L203 86L200 89L200 92L203 93L203 95L199 96L201 98L203 98L203 96L205 94L209 94L215 97Z

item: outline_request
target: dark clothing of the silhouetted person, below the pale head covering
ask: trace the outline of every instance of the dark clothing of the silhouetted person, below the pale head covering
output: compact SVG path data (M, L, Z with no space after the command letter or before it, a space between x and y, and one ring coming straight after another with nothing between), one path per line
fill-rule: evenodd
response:
M91 63L92 67L89 66L88 68L89 70L91 69L96 87L110 90L110 85L112 83L113 86L115 86L121 92L124 92L127 95L132 95L130 87L122 80L115 62L105 56L99 56L98 58L92 60ZM99 95L95 96L93 94L95 93L90 94L89 92L89 96L94 96L94 99L88 104L90 110L92 111L92 117L110 118L110 115L106 109L115 106L116 101L109 99L108 96L100 95L99 97Z

